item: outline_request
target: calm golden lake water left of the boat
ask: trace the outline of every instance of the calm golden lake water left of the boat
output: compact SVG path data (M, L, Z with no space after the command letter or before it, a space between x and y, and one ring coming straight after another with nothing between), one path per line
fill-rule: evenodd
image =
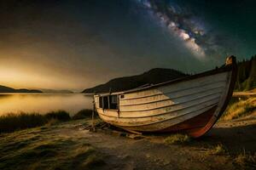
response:
M71 115L92 108L92 97L84 94L0 94L0 116L7 113L64 110Z

